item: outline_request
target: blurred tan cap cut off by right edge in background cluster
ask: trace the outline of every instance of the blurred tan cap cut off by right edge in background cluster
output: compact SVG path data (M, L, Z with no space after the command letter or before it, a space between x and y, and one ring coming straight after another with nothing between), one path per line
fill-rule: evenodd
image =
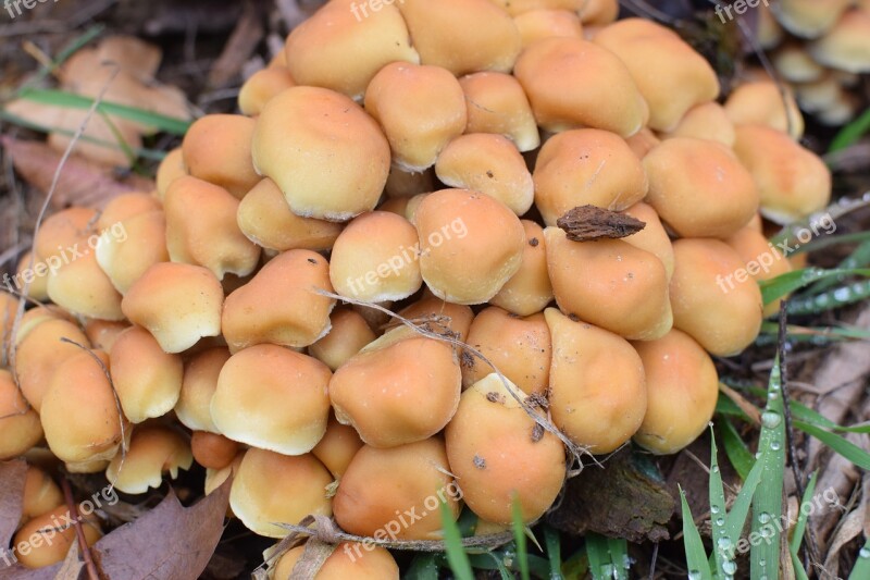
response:
M870 72L870 12L850 10L824 36L809 46L812 58L849 73Z

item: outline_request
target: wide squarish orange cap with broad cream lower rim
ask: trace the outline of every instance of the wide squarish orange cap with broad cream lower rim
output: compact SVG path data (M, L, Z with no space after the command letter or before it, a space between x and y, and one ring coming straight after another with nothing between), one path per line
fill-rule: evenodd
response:
M222 434L283 455L310 452L326 432L332 372L320 360L260 344L226 361L211 399Z

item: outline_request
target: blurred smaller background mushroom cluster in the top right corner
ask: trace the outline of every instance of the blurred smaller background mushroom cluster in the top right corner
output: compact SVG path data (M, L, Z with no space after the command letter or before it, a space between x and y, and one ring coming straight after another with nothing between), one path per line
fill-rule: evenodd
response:
M757 39L791 86L800 109L825 125L844 125L867 106L870 3L781 0L759 9Z

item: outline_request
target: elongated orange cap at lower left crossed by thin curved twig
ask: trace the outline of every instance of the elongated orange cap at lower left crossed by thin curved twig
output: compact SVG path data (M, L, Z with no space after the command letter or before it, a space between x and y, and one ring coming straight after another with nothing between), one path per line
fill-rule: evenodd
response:
M111 459L121 446L122 421L126 419L119 415L108 368L105 353L80 351L58 367L42 398L46 441L66 464ZM83 400L87 405L82 405ZM76 412L70 412L71 408Z

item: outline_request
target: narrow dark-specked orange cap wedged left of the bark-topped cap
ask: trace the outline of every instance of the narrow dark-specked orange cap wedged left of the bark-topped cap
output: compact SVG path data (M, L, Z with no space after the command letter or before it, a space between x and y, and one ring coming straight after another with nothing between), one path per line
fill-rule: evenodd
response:
M521 317L540 312L552 301L552 285L547 272L547 247L544 230L533 221L522 220L525 247L520 269L508 280L489 304Z

